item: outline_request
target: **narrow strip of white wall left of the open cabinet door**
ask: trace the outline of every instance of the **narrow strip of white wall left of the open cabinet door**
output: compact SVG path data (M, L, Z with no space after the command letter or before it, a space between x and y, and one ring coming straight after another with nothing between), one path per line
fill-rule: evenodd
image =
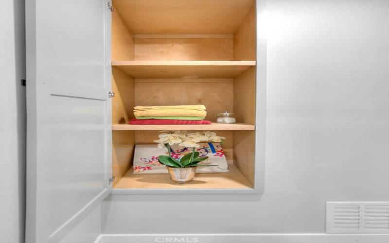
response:
M0 242L24 242L24 1L0 4Z

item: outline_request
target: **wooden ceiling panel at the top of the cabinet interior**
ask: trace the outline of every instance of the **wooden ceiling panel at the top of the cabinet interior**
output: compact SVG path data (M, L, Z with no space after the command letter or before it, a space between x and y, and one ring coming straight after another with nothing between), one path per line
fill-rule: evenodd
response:
M254 0L114 0L134 34L233 34Z

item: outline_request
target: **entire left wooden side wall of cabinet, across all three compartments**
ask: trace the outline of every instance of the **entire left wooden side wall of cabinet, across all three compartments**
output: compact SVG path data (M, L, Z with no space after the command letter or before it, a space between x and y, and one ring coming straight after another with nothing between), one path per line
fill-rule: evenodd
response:
M134 38L117 11L112 12L112 60L134 60ZM134 79L112 67L112 124L126 123L133 117ZM135 146L134 131L112 131L112 175L114 185L131 167Z

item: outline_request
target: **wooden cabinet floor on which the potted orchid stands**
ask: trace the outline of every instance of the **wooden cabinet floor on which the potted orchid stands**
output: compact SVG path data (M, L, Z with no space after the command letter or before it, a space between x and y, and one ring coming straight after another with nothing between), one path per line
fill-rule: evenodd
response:
M133 174L132 169L114 184L114 189L252 189L248 180L233 165L230 172L196 174L188 184L177 184L169 174Z

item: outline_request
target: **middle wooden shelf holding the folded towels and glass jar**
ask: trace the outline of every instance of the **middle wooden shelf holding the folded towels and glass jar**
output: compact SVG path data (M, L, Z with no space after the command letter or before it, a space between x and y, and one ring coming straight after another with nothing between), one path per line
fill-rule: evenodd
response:
M210 125L130 125L113 124L112 130L255 130L254 125L245 123L212 123Z

